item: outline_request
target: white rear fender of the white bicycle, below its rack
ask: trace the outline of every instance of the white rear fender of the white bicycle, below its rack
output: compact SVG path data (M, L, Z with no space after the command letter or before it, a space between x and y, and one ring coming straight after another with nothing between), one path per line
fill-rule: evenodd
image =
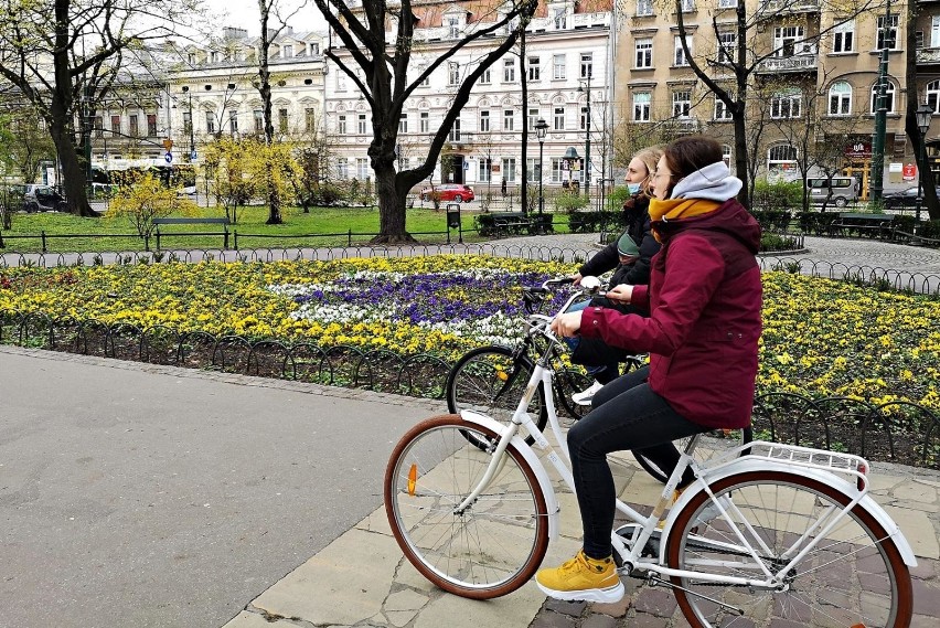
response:
M747 459L747 457L740 458L735 462L722 466L717 468L715 472L707 472L706 478L708 483L713 483L717 480L723 480L729 476L736 476L738 473L745 473L749 471L781 471L786 473L793 473L793 467L784 465L782 462L778 462L775 460L768 460L767 458L758 458L758 459ZM829 485L834 489L844 492L845 494L855 494L858 492L858 489L855 485L845 481L843 478L830 473L820 469L812 468L800 468L799 475L805 476L808 478L812 478L822 483ZM662 539L667 539L670 530L672 530L672 525L675 522L679 513L682 511L685 505L692 501L692 499L699 492L703 492L704 489L701 487L696 487L695 485L688 487L687 490L683 491L682 496L679 500L673 504L670 509L669 517L666 517L665 528L663 528ZM876 502L870 494L866 494L858 502L858 508L867 512L872 515L882 528L885 529L885 532L891 537L895 542L895 545L898 549L898 552L901 555L905 564L909 567L917 566L917 557L914 555L914 550L910 547L910 544L907 542L907 539L901 532L898 524L885 512L885 509L882 508L878 502ZM665 560L665 543L660 544L660 560Z

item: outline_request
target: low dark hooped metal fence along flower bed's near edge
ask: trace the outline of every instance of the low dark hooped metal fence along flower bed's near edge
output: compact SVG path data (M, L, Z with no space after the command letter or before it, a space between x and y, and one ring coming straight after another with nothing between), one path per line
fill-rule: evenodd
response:
M141 329L11 310L0 310L0 343L436 400L444 398L451 368L428 353L216 337L167 326ZM754 428L755 438L940 469L940 417L911 402L874 405L768 393L755 400Z

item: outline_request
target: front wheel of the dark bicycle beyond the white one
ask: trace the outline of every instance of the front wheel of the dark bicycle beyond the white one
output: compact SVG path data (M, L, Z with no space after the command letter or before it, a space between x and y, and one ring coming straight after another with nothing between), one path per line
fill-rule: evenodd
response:
M447 375L447 409L453 414L471 409L509 425L535 370L527 355L513 355L509 347L493 344L479 347L460 358ZM543 388L540 384L527 408L538 429L545 429L548 422ZM528 437L526 443L532 445L534 439ZM474 445L487 448L490 443L474 441Z

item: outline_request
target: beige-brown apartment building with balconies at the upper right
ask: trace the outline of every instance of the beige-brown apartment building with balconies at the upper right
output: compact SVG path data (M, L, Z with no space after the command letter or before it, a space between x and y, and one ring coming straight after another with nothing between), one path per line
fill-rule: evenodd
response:
M615 116L618 125L641 134L644 126L707 132L719 138L733 160L734 129L728 107L693 73L682 46L679 15L652 0L631 0L618 31ZM745 41L737 29L738 2L746 2ZM867 198L872 134L880 51L887 46L887 128L885 188L910 185L901 164L914 161L905 132L907 98L930 103L940 114L940 2L923 1L916 24L906 23L904 2L853 12L825 0L681 0L694 62L731 92L729 61L740 46L756 65L749 89L749 141L757 177L799 177L799 151L791 132L812 132L813 143L838 142L838 168L862 182ZM629 7L629 6L628 6ZM907 29L917 30L918 84L905 81ZM910 88L912 87L912 88ZM940 119L928 138L937 143ZM656 137L656 134L650 134ZM805 150L805 148L803 148Z

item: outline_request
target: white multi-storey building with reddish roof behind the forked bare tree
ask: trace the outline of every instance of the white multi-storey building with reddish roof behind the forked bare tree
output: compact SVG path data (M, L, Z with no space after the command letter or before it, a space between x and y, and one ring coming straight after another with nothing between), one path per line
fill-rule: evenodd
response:
M451 49L467 33L502 19L499 4L488 1L415 2L415 45L409 81L430 60ZM525 35L524 75L519 50L492 65L476 84L469 103L450 131L432 174L434 182L474 184L477 188L523 183L522 131L528 127L526 172L538 180L540 145L535 124L548 124L543 143L544 183L569 179L591 184L603 179L610 163L612 0L547 0L540 4ZM514 26L514 25L513 25ZM502 41L505 32L482 38L438 67L406 102L398 126L399 168L417 166L427 155L458 86L468 73ZM394 36L389 31L389 41ZM356 67L348 50L333 38L333 52ZM368 179L367 149L372 141L371 111L354 82L334 64L327 64L325 129L334 143L338 178ZM528 89L522 102L521 83ZM590 137L590 169L585 164ZM579 161L565 168L563 156L575 148Z

